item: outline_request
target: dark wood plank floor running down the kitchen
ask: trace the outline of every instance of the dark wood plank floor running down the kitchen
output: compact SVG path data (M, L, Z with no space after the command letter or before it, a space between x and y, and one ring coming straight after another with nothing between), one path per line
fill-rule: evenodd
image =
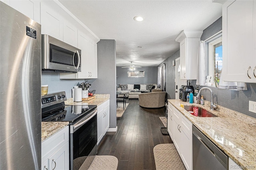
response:
M165 116L165 108L145 109L138 99L130 99L123 116L117 118L117 132L105 134L98 155L116 156L118 170L155 170L154 146L173 143L161 132L161 116Z

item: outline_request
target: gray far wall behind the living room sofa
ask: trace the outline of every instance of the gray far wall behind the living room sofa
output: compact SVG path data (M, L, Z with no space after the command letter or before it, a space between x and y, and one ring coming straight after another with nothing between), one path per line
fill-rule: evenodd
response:
M136 71L145 71L145 77L128 77L129 68L116 67L116 84L146 84L157 83L158 67L141 67Z

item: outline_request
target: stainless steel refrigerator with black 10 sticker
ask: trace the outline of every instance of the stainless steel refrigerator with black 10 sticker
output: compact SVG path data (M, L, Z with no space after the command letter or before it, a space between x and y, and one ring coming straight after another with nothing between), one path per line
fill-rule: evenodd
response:
M41 25L0 2L0 169L41 169Z

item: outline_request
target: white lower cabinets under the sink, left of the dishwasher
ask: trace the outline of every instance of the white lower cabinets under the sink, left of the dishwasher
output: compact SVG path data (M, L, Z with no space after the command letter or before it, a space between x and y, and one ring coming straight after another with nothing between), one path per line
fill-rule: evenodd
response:
M192 170L192 123L171 103L168 107L168 132L186 169Z

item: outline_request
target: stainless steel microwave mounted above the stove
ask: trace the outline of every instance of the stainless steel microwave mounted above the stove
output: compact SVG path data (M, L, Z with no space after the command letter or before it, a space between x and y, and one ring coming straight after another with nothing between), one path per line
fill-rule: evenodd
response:
M81 71L81 50L42 34L42 71L77 73Z

